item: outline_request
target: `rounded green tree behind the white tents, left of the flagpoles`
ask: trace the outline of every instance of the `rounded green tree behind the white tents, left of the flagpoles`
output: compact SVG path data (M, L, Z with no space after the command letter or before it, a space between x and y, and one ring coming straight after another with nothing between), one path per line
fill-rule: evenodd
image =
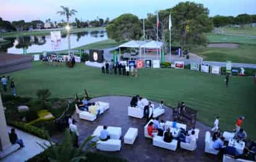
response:
M142 22L136 15L120 15L107 26L107 36L116 41L139 40L142 36Z

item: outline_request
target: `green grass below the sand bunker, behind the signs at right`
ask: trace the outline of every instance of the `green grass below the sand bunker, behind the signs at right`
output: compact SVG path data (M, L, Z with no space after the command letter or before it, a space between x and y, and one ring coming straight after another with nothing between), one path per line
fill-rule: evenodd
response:
M256 64L256 46L239 45L239 49L229 48L196 48L191 52L203 57L205 61L227 61Z

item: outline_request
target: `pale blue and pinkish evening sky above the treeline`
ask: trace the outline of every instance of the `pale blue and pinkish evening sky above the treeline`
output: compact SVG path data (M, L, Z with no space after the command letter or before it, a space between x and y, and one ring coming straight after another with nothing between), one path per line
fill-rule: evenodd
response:
M78 13L80 20L95 20L97 17L114 19L121 14L131 13L140 19L147 13L174 7L181 0L0 0L0 17L4 20L65 20L56 12L60 6L70 7ZM256 14L256 0L193 0L204 4L214 15ZM71 20L74 20L73 17Z

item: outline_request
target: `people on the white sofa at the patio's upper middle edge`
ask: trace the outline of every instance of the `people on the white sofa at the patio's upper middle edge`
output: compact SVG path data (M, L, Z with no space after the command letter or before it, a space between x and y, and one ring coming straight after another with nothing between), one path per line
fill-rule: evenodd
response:
M155 105L146 98L142 98L139 95L133 96L132 100L130 100L130 107L143 109L144 117L147 117L146 123L153 118L153 109L155 108ZM163 109L163 101L160 102L158 108Z

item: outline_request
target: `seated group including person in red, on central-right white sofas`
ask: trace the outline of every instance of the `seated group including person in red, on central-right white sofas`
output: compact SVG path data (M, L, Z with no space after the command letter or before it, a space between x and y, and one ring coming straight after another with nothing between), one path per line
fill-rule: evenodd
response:
M147 132L150 137L155 137L155 135L162 136L164 142L170 143L173 139L178 140L178 142L190 143L196 142L196 133L194 129L186 131L183 128L178 129L176 120L173 121L171 126L174 129L178 130L177 132L171 132L171 128L165 126L165 122L156 117L153 119L153 122L149 122L147 127Z

